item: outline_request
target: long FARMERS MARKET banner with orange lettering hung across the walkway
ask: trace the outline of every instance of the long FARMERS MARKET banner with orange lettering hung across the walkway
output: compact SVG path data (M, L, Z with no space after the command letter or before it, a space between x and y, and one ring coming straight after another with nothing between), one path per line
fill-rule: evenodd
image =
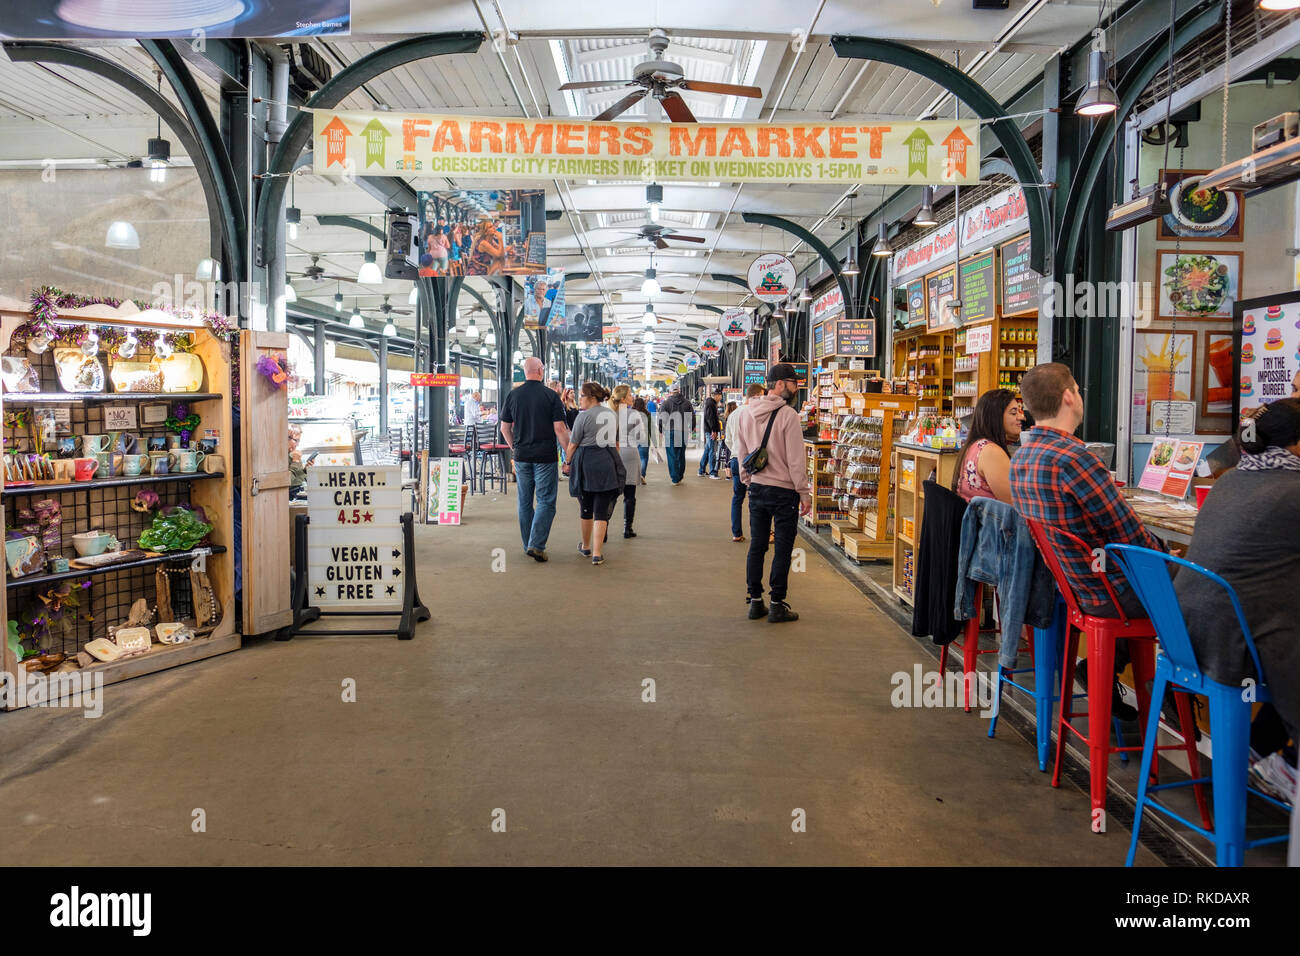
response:
M315 172L344 176L972 183L979 122L636 124L313 111Z

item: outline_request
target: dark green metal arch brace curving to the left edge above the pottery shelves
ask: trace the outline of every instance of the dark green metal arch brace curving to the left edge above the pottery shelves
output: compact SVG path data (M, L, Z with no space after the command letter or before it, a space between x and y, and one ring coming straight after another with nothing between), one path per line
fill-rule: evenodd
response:
M194 170L199 177L199 185L203 187L208 204L212 238L216 239L216 247L225 250L222 261L234 271L231 278L238 278L242 274L239 272L243 263L238 225L242 221L239 206L231 203L230 196L224 191L221 178L213 170L211 157L203 151L194 127L165 96L125 66L75 47L61 47L52 43L5 43L4 51L14 62L53 62L94 73L139 98L157 113L168 129L181 140L185 151L194 159Z

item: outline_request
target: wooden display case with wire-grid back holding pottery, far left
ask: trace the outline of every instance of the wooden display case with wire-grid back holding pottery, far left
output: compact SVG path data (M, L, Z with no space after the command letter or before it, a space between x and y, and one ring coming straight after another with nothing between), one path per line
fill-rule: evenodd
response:
M166 416L161 415L159 406L166 406L166 412L176 415L176 406L185 405L187 411L198 414L200 418L194 441L205 437L205 432L212 429L207 437L217 441L214 454L221 460L220 464L214 462L213 466L209 466L211 471L199 467L198 471L188 473L173 471L166 475L96 475L82 481L74 480L72 475L60 475L56 480L5 485L3 498L6 528L13 529L23 524L31 527L34 510L39 510L42 514L53 511L48 505L38 509L38 502L57 503L60 523L48 527L43 524L42 532L36 535L42 540L46 555L43 570L18 576L6 566L4 594L0 596L0 613L3 613L4 619L25 620L25 614L26 619L30 619L32 609L40 607L42 597L48 597L52 589L60 588L65 583L73 585L72 591L78 598L77 606L65 607L64 617L52 623L49 633L43 635L39 641L43 648L65 656L61 669L55 671L56 679L51 680L32 672L27 676L29 684L44 683L40 692L49 698L58 698L73 693L72 680L68 679L73 671L91 675L91 679L96 680L101 678L103 683L109 684L235 650L240 645L240 635L237 632L234 607L234 496L230 471L233 442L237 438L230 431L231 345L214 336L202 320L172 316L152 310L140 313L130 303L124 303L117 308L88 306L79 310L64 310L56 319L56 324L60 326L88 324L100 329L110 326L134 329L139 339L139 354L133 359L136 362L147 362L151 358L150 347L159 333L183 332L190 338L190 351L199 358L203 368L200 392L114 393L108 390L110 388L108 381L110 359L107 349L101 346L98 359L104 367L105 390L69 393L60 386L52 358L53 349L35 354L26 349L25 342L16 343L16 347L10 349L14 330L30 319L26 303L9 298L0 299L0 352L27 360L39 377L40 388L39 392L14 392L0 397L0 411L4 412L5 421L6 451L17 451L22 447L25 457L36 455L38 436L31 431L35 427L36 415L21 415L25 411L49 410L53 412L52 418L56 418L58 423L56 444L53 449L47 445L42 451L49 453L55 458L61 451L57 447L57 438L69 440L82 434L117 436L130 433L138 438L138 445L147 447L150 437L168 434L161 420ZM20 412L20 415L10 415L10 412ZM126 420L134 418L136 424L130 428L113 428L112 425L118 424L113 419L120 416ZM29 418L31 424L27 421ZM78 451L78 455L81 454L83 453ZM160 506L188 503L202 507L207 522L212 524L212 532L208 536L209 544L188 551L161 554L146 551L134 559L95 568L72 567L66 571L56 571L51 567L52 558L77 558L73 535L79 532L104 531L118 538L122 550L135 549L138 546L136 538L153 519L153 512L131 507L136 492L142 490L157 494ZM198 622L195 620L195 614L207 606L207 592L203 588L203 581L191 575L191 564L195 558L202 558L203 572L207 575L207 584L211 585L217 611L216 619L209 620L207 627L196 627ZM166 574L160 574L160 570ZM82 587L84 583L88 583L88 587ZM138 598L144 598L151 607L155 607L162 583L168 585L166 597L174 609L172 619L195 626L196 637L194 640L181 644L161 644L157 643L155 635L144 653L121 657L112 662L96 661L77 666L78 652L82 652L92 639L108 637L108 628L121 626L126 619L127 609ZM153 623L159 622L155 619ZM14 648L8 641L4 648L4 671L27 675L14 653ZM12 709L13 700L6 700L5 705Z

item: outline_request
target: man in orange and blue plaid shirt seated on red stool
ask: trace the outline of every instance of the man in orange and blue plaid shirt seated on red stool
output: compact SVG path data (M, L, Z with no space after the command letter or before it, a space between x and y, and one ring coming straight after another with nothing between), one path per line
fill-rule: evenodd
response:
M1020 380L1020 398L1035 427L1020 436L1020 449L1011 459L1011 506L1024 518L1070 532L1089 550L1109 544L1165 550L1119 494L1097 457L1074 437L1083 423L1083 395L1070 369L1056 362L1036 365ZM1118 617L1092 570L1092 554L1066 550L1062 542L1057 557L1082 611ZM1109 580L1124 614L1145 618L1147 611L1123 575L1110 572Z

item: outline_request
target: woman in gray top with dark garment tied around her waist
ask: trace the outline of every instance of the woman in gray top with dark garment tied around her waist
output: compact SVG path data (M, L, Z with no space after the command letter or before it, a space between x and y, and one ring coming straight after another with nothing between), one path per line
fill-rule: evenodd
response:
M578 398L581 411L569 436L564 472L569 476L569 494L578 499L582 540L577 550L590 555L593 564L603 564L601 553L610 529L610 516L627 485L627 472L618 449L618 419L601 405L610 393L599 382L582 385Z

